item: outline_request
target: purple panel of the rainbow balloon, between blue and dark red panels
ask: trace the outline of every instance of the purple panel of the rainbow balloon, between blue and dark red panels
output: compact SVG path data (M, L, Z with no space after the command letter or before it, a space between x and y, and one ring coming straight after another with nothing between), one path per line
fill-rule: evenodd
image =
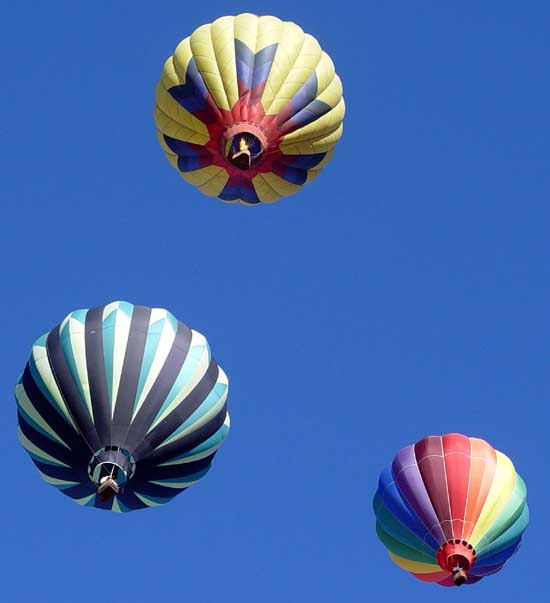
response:
M426 526L426 530L432 534L439 544L446 542L445 534L441 530L416 464L414 446L402 448L396 454L392 463L392 473L401 496L418 515Z

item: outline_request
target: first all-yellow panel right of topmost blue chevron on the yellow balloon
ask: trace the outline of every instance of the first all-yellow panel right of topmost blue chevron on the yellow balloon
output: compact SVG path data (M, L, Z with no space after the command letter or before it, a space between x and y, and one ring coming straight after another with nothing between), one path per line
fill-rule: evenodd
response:
M304 44L304 39L305 34L298 25L290 22L283 23L281 40L262 95L262 106L266 113L277 113L277 111L271 111L270 107L292 70Z

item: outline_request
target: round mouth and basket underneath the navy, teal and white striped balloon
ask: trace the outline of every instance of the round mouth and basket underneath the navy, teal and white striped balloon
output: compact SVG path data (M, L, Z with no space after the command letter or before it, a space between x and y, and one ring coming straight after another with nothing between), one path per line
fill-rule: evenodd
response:
M122 493L135 468L135 460L128 450L119 446L105 446L92 456L88 476L95 484L98 496L106 501Z

